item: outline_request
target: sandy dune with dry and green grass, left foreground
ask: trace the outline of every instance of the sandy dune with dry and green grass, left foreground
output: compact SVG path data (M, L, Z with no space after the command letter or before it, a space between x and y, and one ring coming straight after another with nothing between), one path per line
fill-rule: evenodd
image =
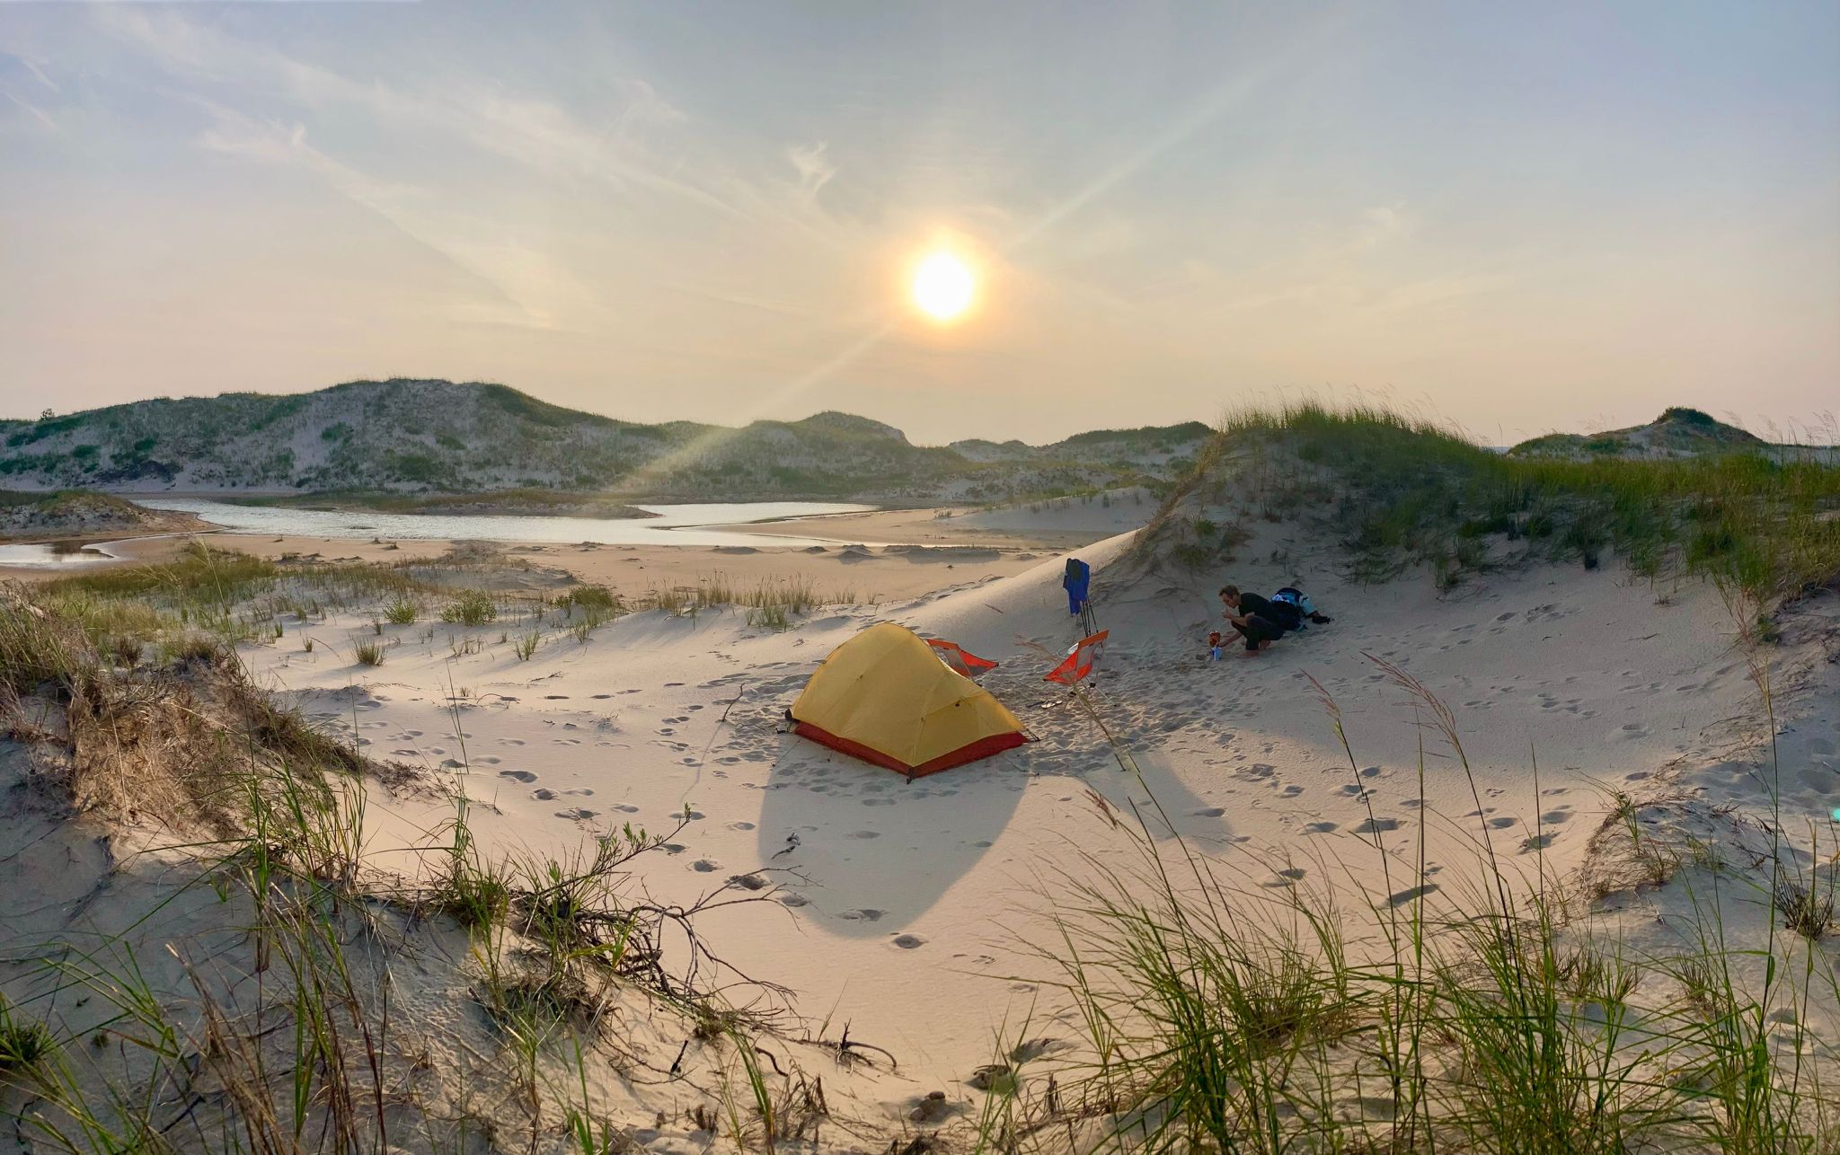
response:
M771 890L662 903L633 883L688 817L486 855L456 793L445 824L379 835L372 800L453 783L315 728L237 660L283 635L311 647L351 612L528 658L622 609L598 587L500 596L491 572L447 568L477 585L193 546L0 587L0 1113L22 1148L887 1146L887 1120L857 1116L892 1056L799 1019L697 931Z

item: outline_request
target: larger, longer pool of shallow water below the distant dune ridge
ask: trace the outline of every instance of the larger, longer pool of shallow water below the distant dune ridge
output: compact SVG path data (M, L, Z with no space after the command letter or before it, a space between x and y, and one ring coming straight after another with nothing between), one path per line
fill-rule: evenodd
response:
M653 546L813 546L835 544L824 537L780 537L742 530L712 530L758 520L859 513L874 506L837 502L710 502L699 506L638 506L657 517L491 517L480 513L370 513L331 509L283 509L234 506L191 498L136 498L149 509L193 513L232 533L272 537L340 537L353 541L543 541L572 544Z

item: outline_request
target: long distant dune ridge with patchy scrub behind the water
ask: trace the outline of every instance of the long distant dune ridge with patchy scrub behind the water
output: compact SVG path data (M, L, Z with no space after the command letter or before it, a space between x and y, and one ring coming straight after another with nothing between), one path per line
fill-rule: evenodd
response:
M1200 421L1095 430L1052 445L913 445L839 412L743 429L642 425L504 384L353 381L313 394L153 399L0 421L17 489L477 493L1001 500L1179 475Z

